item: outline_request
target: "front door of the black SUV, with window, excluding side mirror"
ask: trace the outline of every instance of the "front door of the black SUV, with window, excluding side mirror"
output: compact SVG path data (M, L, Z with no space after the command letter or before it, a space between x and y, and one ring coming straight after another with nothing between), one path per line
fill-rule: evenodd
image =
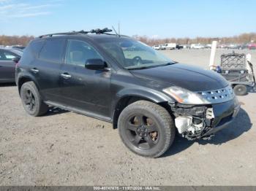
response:
M68 40L66 58L61 66L61 96L67 106L110 117L111 71L86 69L86 61L92 58L103 60L89 43Z

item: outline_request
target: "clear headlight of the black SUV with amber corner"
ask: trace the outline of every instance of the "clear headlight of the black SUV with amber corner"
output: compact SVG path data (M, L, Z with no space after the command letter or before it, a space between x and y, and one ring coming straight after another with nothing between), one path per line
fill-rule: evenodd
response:
M172 86L163 90L181 104L210 104L205 98L182 87Z

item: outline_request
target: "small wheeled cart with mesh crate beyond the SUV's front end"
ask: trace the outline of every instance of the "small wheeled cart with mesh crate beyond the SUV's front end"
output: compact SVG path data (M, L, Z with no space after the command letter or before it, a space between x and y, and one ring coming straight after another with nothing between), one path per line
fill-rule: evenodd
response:
M236 95L246 95L247 87L255 88L253 66L245 54L222 54L221 64L216 70L230 82Z

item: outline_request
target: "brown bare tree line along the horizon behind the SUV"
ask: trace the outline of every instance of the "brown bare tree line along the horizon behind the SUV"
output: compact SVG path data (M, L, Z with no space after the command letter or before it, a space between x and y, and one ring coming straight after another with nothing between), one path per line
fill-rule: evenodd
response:
M194 39L190 38L150 38L148 36L138 36L134 35L132 36L135 39L140 40L141 42L144 42L148 45L154 45L154 44L165 44L165 43L177 43L177 44L193 44L193 43L200 43L200 44L211 44L213 40L217 40L219 44L246 44L250 42L256 42L256 33L247 33L247 34L241 34L238 36L231 36L231 37L196 37ZM26 46L26 44L31 41L31 39L34 39L34 36L6 36L1 35L0 36L0 45L23 45Z

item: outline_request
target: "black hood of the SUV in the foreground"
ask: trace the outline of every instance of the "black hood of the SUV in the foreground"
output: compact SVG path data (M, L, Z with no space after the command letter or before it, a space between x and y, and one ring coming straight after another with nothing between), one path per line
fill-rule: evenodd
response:
M181 63L131 70L131 73L135 77L170 83L190 91L216 90L228 85L227 80L217 72Z

